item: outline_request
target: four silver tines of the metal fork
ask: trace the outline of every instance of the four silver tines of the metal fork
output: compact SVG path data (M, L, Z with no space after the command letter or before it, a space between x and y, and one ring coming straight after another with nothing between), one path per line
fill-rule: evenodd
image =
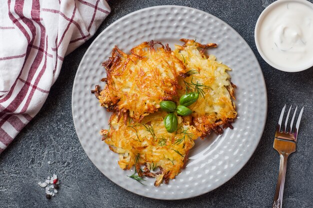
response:
M294 109L294 112L293 112L293 115L292 115L292 118L291 118L291 121L290 121L290 125L289 125L290 127L288 128L287 127L287 123L288 123L288 120L289 120L289 114L290 114L292 105L289 107L289 110L288 110L287 115L285 117L286 119L285 119L284 125L282 126L282 129L281 129L281 122L282 122L282 118L283 118L283 115L284 115L285 108L286 108L286 105L284 105L282 110L281 110L279 121L278 121L278 124L277 124L277 130L279 130L279 132L293 133L293 134L296 135L296 133L299 130L300 120L301 120L301 116L302 116L302 113L303 113L303 107L300 110L300 113L298 115L298 119L296 121L294 129L292 129L292 125L293 125L294 117L295 117L295 114L296 114L296 111L297 111L298 107L296 106L295 109Z

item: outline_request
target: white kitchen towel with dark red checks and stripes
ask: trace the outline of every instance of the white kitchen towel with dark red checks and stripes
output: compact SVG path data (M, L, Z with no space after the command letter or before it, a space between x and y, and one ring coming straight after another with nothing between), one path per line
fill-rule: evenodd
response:
M0 3L0 153L40 110L64 56L109 12L105 0Z

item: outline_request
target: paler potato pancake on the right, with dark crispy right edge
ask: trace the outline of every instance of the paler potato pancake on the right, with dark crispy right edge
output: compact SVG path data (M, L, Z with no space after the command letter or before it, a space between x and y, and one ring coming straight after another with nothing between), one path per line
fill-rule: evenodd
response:
M179 91L178 97L189 91L198 91L198 100L188 106L192 110L192 124L201 133L201 138L212 131L221 134L223 130L220 126L232 128L230 123L237 115L232 101L235 99L235 85L230 82L227 73L231 69L216 61L213 55L207 57L204 54L204 49L216 47L215 43L202 45L195 40L181 41L185 44L176 45L173 52L184 63L190 76L180 79L184 90Z

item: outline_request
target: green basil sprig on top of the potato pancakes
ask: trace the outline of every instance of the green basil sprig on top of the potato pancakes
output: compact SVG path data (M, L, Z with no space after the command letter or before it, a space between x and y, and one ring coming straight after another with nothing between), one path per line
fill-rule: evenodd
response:
M175 115L175 112L179 116L188 116L192 113L192 111L187 108L186 106L191 105L199 98L198 92L189 92L187 94L184 94L179 99L179 104L176 106L176 104L172 101L161 101L160 102L160 108L163 111L169 112L164 118L164 126L169 133L173 133L177 130L178 127L178 119Z

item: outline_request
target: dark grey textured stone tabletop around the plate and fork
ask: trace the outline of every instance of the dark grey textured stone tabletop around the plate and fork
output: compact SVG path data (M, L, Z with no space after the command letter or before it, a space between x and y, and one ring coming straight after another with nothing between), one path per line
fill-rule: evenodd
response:
M94 39L65 57L59 78L38 115L0 155L0 208L263 208L270 207L279 157L272 149L274 127L283 104L304 106L297 152L289 157L284 208L313 207L313 70L286 73L273 69L254 44L257 17L272 0L110 0L111 14L96 35L116 19L140 8L177 4L209 12L232 26L250 45L262 68L268 113L265 131L249 162L231 180L202 196L158 201L123 190L89 161L77 139L71 117L71 89L84 52ZM52 164L48 165L47 161ZM61 187L45 199L37 185L56 173Z

